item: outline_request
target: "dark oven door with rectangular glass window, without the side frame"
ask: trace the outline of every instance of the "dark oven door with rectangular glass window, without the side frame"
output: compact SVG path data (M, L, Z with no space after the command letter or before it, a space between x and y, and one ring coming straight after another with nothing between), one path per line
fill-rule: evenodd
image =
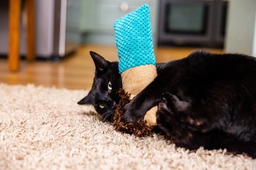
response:
M159 43L182 45L210 41L213 11L213 0L162 0Z

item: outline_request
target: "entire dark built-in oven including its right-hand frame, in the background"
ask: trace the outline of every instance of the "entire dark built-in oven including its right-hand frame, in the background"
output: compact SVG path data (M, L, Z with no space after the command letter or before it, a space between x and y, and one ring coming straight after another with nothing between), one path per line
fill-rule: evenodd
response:
M159 45L223 47L228 1L161 0Z

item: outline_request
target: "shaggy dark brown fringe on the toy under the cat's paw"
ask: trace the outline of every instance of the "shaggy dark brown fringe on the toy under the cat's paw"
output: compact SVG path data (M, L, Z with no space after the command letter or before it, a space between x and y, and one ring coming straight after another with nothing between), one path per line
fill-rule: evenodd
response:
M126 123L123 119L124 105L130 102L130 94L125 92L122 88L118 90L118 95L121 98L116 107L113 117L113 125L116 131L122 133L133 134L139 137L152 135L154 126L147 126L146 120L139 120L136 123Z

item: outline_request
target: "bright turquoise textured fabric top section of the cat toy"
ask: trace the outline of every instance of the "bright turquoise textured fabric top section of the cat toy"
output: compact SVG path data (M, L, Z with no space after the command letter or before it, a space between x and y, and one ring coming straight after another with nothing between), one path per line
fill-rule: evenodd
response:
M148 5L116 20L114 30L120 74L135 66L156 65Z

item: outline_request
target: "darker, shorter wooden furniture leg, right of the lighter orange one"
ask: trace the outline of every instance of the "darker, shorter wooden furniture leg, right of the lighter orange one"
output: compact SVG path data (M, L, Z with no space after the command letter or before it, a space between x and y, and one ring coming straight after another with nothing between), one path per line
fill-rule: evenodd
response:
M35 11L34 11L34 0L26 1L27 7L27 59L35 59Z

